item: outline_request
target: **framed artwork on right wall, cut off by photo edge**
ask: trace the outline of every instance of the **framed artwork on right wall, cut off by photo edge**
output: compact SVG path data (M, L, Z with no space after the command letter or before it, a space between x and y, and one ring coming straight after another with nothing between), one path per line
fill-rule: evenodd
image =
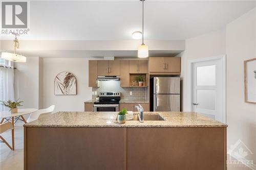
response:
M246 103L256 104L256 58L244 61L244 96Z

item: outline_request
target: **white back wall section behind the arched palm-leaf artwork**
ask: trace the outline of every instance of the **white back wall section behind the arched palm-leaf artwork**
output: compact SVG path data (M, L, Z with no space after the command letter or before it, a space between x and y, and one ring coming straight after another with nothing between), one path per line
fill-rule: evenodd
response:
M84 111L92 98L88 87L88 59L44 59L44 107L55 105L55 111ZM61 71L72 72L77 79L77 95L54 95L54 78Z

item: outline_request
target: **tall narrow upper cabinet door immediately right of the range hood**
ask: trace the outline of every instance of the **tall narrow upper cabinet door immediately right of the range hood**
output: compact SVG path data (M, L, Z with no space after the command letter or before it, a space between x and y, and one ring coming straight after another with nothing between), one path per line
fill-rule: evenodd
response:
M120 86L129 87L130 86L130 74L129 74L129 61L120 61Z

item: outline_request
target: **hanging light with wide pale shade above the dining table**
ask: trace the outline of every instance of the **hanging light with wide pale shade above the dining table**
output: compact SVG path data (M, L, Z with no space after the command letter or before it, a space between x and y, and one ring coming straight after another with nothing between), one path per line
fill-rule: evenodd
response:
M19 48L19 42L17 39L17 34L15 34L14 41L14 54L13 53L2 53L1 58L5 60L15 61L15 62L26 62L26 57L16 54L16 48Z

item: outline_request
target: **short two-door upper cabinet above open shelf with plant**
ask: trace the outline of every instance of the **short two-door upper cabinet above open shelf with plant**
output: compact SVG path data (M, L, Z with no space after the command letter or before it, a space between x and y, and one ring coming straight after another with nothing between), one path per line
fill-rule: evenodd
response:
M147 74L147 60L130 60L130 74Z

